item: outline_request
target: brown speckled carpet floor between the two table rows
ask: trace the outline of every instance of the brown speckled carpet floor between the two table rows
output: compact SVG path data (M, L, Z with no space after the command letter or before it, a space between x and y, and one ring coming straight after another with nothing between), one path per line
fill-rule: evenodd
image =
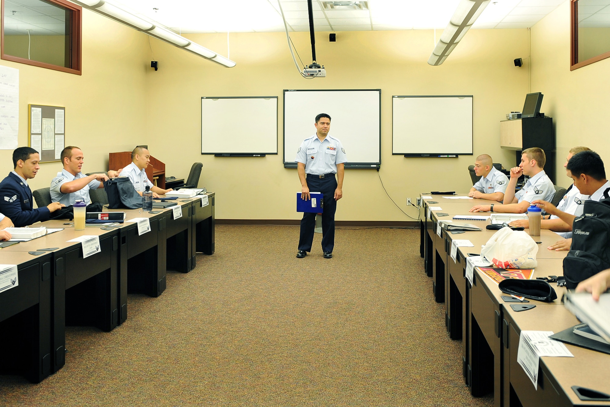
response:
M1 406L491 406L461 373L419 231L338 229L296 259L298 227L217 226L216 253L129 295L112 332L66 329L40 384L0 376Z

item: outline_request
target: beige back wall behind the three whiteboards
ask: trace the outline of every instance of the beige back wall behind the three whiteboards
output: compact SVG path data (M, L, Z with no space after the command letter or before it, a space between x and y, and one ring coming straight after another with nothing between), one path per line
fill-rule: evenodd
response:
M226 56L226 34L188 37ZM298 32L291 37L308 63L309 34ZM392 95L474 95L475 156L489 153L495 162L510 167L514 152L499 147L500 120L506 112L522 108L528 90L526 65L515 68L512 63L527 55L526 29L472 30L439 67L426 62L432 48L432 31L339 32L336 43L328 42L328 33L319 32L318 62L325 65L328 77L308 81L296 72L281 32L231 34L231 59L237 67L230 69L152 40L159 71L147 75L146 140L152 155L167 164L168 175L186 176L193 162L204 163L200 186L217 193L218 218L298 219L294 200L300 183L296 170L282 165L282 90L379 88L381 171L346 171L337 220L408 221L384 193L378 175L392 199L417 216L414 207L406 207L406 198L415 198L431 186L467 191L472 186L467 167L474 158L393 156ZM202 96L265 95L279 96L278 155L217 158L200 154ZM311 130L313 134L313 118Z

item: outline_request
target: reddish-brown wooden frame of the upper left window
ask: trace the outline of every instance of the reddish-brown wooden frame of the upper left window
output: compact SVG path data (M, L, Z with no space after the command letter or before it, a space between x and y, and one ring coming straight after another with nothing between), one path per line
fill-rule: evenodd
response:
M0 59L10 60L13 62L20 62L20 64L34 65L35 67L48 68L56 71L62 71L67 73L74 73L75 75L82 75L82 60L81 60L81 45L82 45L82 7L66 0L45 0L46 2L59 5L64 9L69 9L71 13L71 42L70 48L66 53L66 57L70 56L72 60L71 68L60 67L59 65L47 64L46 62L39 62L37 60L31 60L26 58L20 58L4 53L4 0L0 0L2 5L0 7L1 13L1 29L0 29ZM67 24L66 24L67 25ZM67 47L66 47L67 48Z

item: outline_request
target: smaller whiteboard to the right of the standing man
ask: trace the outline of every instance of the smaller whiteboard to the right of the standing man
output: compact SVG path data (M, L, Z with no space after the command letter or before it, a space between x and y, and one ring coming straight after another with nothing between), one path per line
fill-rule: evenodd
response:
M392 154L472 155L472 95L393 96Z

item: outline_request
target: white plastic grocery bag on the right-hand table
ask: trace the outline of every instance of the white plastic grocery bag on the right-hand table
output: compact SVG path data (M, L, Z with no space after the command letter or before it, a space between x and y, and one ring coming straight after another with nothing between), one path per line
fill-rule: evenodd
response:
M523 230L503 227L485 244L481 255L498 268L534 268L538 245Z

